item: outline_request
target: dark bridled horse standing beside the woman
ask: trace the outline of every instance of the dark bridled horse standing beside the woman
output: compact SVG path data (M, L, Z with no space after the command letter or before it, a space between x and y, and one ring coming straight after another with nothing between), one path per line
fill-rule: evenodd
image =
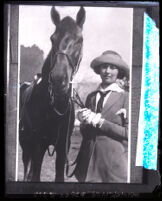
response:
M51 154L52 145L56 153L55 182L64 182L75 120L71 82L82 59L85 18L82 6L75 20L69 16L61 20L56 8L51 8L55 31L41 76L20 88L19 142L24 181L40 181L43 157L47 150Z

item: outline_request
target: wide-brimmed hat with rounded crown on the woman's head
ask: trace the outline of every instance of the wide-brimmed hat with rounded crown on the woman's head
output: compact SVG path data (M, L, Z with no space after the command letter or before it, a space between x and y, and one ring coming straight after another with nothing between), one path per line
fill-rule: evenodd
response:
M129 76L129 67L123 61L122 57L111 50L107 50L102 53L101 56L96 57L90 64L91 68L95 71L95 73L100 74L100 66L102 64L113 64L125 72L126 76Z

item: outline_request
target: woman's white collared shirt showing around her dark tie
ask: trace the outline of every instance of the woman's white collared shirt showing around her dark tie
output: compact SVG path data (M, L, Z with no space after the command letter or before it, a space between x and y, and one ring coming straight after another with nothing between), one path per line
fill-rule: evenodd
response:
M110 90L110 92L109 92L109 93L105 96L105 98L104 98L103 107L104 107L105 103L107 102L107 100L108 100L110 94L112 93L112 91L116 91L116 92L119 92L119 93L124 92L124 90L123 90L122 88L120 88L119 85L116 84L116 83L112 83L111 85L109 85L109 86L106 87L105 89L103 89L103 88L101 87L101 84L100 84L100 85L98 86L98 88L97 88L97 91L101 91L101 92L106 92L106 91L108 91L108 90ZM97 103L98 103L100 97L101 97L101 95L100 95L100 93L98 92L97 95L96 95L95 111L96 111L96 109L97 109Z

